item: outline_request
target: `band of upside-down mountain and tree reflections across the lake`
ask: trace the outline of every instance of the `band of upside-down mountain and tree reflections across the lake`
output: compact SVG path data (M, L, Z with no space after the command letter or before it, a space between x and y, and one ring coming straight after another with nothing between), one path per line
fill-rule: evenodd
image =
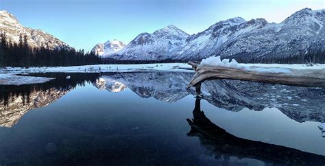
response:
M154 97L160 101L176 102L195 95L186 86L193 73L37 73L37 76L56 78L44 84L0 86L1 126L12 126L27 110L47 106L69 93L75 86L91 82L100 90L119 93L125 88L139 97ZM65 77L71 75L71 79ZM231 111L243 108L263 110L276 107L287 117L303 122L324 122L325 89L263 84L239 80L208 80L202 84L204 98L210 104ZM10 117L13 116L13 117ZM16 118L14 118L16 117ZM11 122L12 121L15 122Z

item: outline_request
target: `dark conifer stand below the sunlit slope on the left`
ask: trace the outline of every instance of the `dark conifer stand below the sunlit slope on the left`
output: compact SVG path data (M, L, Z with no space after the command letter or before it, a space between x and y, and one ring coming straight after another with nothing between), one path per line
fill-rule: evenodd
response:
M1 33L0 67L55 67L101 64L101 58L95 52L76 51L73 48L60 47L50 49L49 45L38 48L29 47L27 36L20 34L19 43L7 39Z

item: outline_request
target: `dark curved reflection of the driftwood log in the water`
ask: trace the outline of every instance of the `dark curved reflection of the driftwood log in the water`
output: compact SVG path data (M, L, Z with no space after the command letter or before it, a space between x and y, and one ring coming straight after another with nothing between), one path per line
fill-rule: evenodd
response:
M325 156L302 152L290 147L241 139L212 123L196 99L193 119L186 119L191 126L190 137L199 137L204 147L209 147L219 158L229 156L252 158L276 165L324 165Z

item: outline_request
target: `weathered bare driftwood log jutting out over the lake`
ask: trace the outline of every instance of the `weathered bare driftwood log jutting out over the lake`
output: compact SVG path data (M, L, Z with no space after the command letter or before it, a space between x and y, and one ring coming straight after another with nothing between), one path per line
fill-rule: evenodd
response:
M288 69L290 73L266 73L246 71L226 67L199 66L195 62L189 62L195 70L195 75L189 85L200 86L202 82L210 79L231 79L269 84L284 84L291 86L325 87L325 69ZM200 95L200 92L197 92Z

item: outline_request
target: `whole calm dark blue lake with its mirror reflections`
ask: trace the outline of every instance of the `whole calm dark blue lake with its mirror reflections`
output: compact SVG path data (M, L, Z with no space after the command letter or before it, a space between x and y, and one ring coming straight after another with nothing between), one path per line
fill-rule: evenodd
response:
M210 80L196 99L193 73L33 75L56 79L0 86L0 165L325 165L324 88Z

